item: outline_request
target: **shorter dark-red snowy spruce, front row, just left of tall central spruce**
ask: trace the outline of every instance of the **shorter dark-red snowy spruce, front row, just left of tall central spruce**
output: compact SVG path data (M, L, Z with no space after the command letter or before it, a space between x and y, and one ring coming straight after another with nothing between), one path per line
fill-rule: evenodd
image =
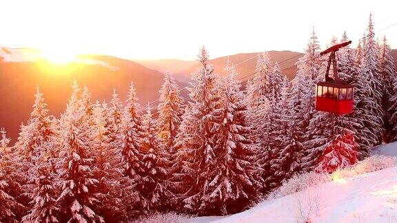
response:
M137 182L135 190L147 199L150 210L166 211L174 194L168 189L170 167L169 154L160 138L156 135L156 123L148 105L147 113L143 116L143 163L145 175L142 181Z

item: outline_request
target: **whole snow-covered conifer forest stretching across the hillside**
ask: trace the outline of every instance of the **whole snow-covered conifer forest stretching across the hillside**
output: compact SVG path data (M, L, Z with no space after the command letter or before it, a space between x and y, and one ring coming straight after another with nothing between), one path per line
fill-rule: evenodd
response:
M340 78L354 85L354 111L343 116L315 109L328 58L314 30L291 81L268 52L242 81L231 61L214 70L203 47L188 97L171 72L149 103L132 82L128 95L109 89L112 99L99 101L74 81L64 111L52 116L38 85L15 145L0 132L0 222L230 215L294 176L364 160L397 140L396 63L386 36L375 34L369 17L365 36L336 52Z

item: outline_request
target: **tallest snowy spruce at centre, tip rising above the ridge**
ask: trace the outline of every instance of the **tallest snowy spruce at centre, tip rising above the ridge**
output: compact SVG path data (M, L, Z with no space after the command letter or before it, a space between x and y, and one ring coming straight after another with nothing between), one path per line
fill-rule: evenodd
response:
M190 99L179 128L176 145L176 162L172 180L179 184L180 201L191 213L210 214L216 212L203 196L208 187L210 164L215 162L216 131L221 114L218 98L219 89L214 69L208 61L203 47L199 54L200 68L192 75Z

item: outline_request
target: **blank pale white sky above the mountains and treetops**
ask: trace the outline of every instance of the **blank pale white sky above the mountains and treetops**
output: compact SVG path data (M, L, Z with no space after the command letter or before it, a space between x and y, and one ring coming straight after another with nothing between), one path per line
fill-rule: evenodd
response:
M325 47L347 31L353 45L372 12L375 31L397 23L397 1L0 0L0 45L125 59L196 59L263 50L303 52L314 25ZM387 34L397 48L397 25Z

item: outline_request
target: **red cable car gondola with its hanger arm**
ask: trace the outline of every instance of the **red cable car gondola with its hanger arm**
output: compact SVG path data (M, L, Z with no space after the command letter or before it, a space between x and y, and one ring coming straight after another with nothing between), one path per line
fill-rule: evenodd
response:
M325 81L317 83L316 110L318 111L326 111L338 115L349 114L353 111L354 85L339 78L335 56L336 51L350 43L352 41L340 43L320 53L320 55L331 54L328 59ZM329 77L331 63L334 70L334 78Z

